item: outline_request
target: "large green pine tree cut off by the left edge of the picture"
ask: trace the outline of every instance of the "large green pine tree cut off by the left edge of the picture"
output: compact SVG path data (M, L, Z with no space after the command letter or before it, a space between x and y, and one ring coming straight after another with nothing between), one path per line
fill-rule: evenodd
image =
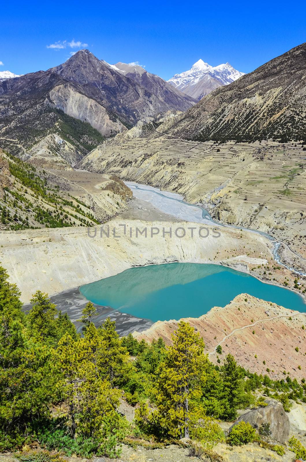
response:
M49 417L56 373L51 352L28 337L15 285L0 267L0 446L21 444L39 421Z

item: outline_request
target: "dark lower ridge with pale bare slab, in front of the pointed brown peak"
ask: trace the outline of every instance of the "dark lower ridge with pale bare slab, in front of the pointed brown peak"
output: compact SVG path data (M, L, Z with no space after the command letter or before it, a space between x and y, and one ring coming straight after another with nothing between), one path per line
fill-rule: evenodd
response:
M97 128L94 128L97 127ZM126 129L104 107L55 73L39 71L0 83L0 146L23 155L57 133L84 155L104 136Z

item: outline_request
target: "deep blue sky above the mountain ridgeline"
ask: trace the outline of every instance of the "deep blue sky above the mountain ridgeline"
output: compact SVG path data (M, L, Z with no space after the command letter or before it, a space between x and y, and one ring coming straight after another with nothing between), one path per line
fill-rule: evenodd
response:
M46 70L80 48L111 64L138 61L164 79L200 58L251 72L303 42L306 2L299 0L16 0L0 9L0 70L17 74Z

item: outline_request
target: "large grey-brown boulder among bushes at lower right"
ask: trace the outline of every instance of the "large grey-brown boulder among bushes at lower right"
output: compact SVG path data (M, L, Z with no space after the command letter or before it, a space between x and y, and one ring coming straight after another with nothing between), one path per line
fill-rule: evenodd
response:
M244 422L249 422L255 428L260 427L263 424L269 424L271 438L276 439L280 443L288 441L290 424L288 415L282 407L282 403L272 399L265 401L268 406L252 409L251 411L241 415L231 426L229 433L232 431L233 426L239 424L239 422L243 420Z

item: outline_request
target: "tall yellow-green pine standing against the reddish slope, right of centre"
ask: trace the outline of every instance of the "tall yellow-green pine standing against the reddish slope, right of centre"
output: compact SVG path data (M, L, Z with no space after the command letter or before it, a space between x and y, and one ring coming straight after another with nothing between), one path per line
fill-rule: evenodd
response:
M181 321L172 335L173 346L159 366L155 398L160 426L169 435L189 438L204 416L201 396L204 342L187 322Z

